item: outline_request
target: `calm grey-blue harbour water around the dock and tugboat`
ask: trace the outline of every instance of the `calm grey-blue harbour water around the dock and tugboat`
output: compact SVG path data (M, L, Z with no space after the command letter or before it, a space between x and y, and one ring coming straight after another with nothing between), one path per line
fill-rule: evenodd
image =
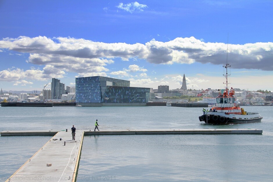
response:
M263 135L85 136L77 181L273 181L273 107L246 106L261 123L214 126L202 108L0 107L1 131L255 128ZM0 137L5 181L51 137Z

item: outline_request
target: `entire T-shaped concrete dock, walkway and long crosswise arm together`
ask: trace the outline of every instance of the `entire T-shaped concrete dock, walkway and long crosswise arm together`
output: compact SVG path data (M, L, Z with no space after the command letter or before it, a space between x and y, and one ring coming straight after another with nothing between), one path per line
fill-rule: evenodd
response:
M259 129L154 129L77 131L3 131L1 136L54 135L8 181L76 181L84 135L262 134Z

